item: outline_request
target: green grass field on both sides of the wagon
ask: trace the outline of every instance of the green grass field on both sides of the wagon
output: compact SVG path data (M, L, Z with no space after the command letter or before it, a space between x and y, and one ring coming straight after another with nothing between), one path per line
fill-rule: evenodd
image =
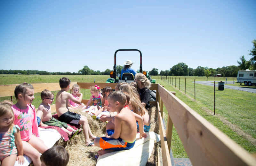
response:
M107 75L5 75L0 74L0 84L20 84L28 83L55 83L59 82L61 77L68 77L71 82L105 82L109 76ZM175 91L176 96L185 102L190 108L194 109L198 114L216 126L220 131L224 132L232 140L236 141L240 146L244 147L250 153L256 153L256 112L255 106L256 94L225 89L224 91L216 90L216 115L213 115L213 87L207 85L196 84L196 101L194 100L194 79L196 81L206 80L206 77L186 77L186 95L185 77L176 77L176 88L173 82L175 77L170 77L164 81L161 76L153 76L156 83L164 85L169 91ZM180 85L179 85L180 78ZM209 77L208 80L224 81L225 78ZM233 81L234 78L228 78ZM180 90L179 90L180 89ZM53 92L55 95L57 91ZM83 99L89 99L90 91L81 90ZM15 97L13 96L13 99ZM0 101L10 99L10 97L2 97ZM13 101L16 103L16 101ZM35 94L33 104L37 108L41 103L40 94ZM55 101L53 102L53 104ZM245 104L246 103L246 104ZM167 113L164 108L164 112ZM179 139L175 128L173 128L172 136L172 152L175 158L188 157L184 147Z

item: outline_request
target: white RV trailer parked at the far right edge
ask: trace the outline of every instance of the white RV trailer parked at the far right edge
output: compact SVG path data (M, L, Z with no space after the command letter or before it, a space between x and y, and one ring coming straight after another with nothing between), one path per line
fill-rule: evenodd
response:
M237 73L237 82L240 82L240 85L256 85L256 70L242 70Z

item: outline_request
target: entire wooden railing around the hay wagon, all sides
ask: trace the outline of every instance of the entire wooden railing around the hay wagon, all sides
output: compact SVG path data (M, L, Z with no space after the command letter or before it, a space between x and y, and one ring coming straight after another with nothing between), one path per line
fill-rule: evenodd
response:
M71 87L76 82L71 83ZM115 83L81 83L77 82L83 89L97 84L100 87L112 87ZM35 93L44 89L50 91L60 90L59 83L32 84ZM1 85L0 97L14 95L17 85ZM244 148L240 147L224 133L210 124L202 116L189 108L184 102L175 96L175 92L169 92L160 84L152 84L151 90L156 90L156 105L158 111L159 132L161 137L162 161L164 166L172 165L170 150L173 125L182 141L182 144L193 165L256 165L256 159ZM86 104L87 99L82 102ZM168 111L166 133L163 125L163 106ZM52 106L55 112L55 104ZM160 160L158 160L160 162ZM158 163L159 164L159 163Z

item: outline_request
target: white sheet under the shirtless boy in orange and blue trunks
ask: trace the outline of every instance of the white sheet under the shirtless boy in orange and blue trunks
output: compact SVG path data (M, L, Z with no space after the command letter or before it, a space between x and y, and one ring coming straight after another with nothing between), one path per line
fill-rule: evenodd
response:
M146 165L154 143L160 141L160 135L155 132L147 132L147 135L147 138L140 139L140 134L138 133L134 147L129 150L116 151L99 156L96 166Z

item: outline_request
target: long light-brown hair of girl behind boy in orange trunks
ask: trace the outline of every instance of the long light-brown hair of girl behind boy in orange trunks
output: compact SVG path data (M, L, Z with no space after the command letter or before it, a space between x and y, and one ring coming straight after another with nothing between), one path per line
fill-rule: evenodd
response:
M132 90L130 85L126 82L120 83L119 90L126 91L130 95L130 104L132 105L133 112L143 116L146 113L145 107L141 104L139 96Z

